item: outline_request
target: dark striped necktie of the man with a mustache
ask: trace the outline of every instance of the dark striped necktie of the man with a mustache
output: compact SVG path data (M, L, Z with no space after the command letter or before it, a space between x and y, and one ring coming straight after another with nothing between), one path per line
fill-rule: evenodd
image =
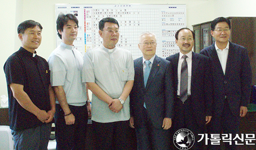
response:
M188 56L183 55L182 58L184 59L182 62L182 69L181 69L181 85L180 85L180 99L184 103L188 99L188 64L187 58Z

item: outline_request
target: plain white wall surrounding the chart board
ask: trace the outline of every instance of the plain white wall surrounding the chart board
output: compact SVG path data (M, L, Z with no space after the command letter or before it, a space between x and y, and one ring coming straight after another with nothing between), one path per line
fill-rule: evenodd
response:
M47 59L55 49L55 4L124 4L121 0L0 0L0 95L7 95L3 65L20 47L17 26L35 20L43 26L42 42L37 52ZM187 26L219 16L256 17L256 0L126 0L126 4L186 4Z

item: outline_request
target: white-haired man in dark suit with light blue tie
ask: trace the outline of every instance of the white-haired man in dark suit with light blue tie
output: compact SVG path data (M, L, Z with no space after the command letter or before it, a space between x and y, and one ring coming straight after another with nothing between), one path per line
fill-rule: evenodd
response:
M130 93L130 126L135 128L137 150L169 150L173 101L165 72L169 62L155 55L154 33L141 33L143 57L134 60L135 80Z

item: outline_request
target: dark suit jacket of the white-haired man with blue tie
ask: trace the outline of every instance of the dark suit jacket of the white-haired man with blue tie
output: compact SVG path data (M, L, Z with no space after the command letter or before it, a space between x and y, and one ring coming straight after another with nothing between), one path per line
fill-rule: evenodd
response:
M168 64L167 60L155 55L145 88L142 57L134 60L135 78L130 93L130 110L131 116L134 117L135 127L140 127L143 123L144 102L155 128L162 128L164 117L173 117L173 100L167 87L169 79L165 76Z

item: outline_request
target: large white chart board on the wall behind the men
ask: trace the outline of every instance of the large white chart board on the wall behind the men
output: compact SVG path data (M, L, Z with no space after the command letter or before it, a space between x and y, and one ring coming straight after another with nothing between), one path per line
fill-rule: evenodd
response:
M157 38L156 55L166 58L179 52L175 44L175 33L186 27L185 5L144 4L56 4L56 19L59 13L72 13L79 20L79 31L74 46L82 54L102 44L99 21L113 17L119 23L120 37L117 46L132 52L133 59L142 56L138 48L138 36L153 32ZM61 39L56 37L56 44Z

